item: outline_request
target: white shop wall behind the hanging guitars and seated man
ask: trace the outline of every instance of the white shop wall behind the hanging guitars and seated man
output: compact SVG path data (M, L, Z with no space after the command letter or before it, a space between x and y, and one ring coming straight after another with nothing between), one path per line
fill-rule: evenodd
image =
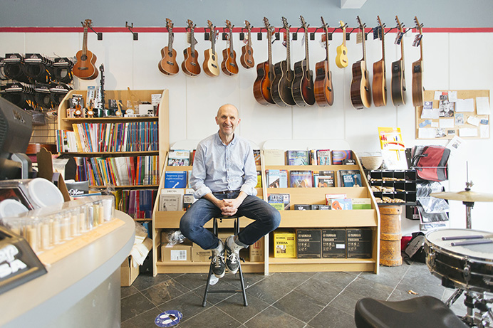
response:
M291 22L296 24L297 22ZM274 26L280 22L271 21ZM367 61L372 75L372 66L381 58L380 41L373 41L368 35ZM310 41L310 65L313 69L317 61L325 58L325 50L320 45L321 34L316 41ZM204 59L203 52L210 43L204 41L203 33L196 33L199 43L199 62ZM180 139L202 139L217 130L214 115L217 108L231 102L239 107L242 123L238 132L242 137L263 144L268 139L346 139L355 152L375 152L379 149L378 127L400 127L407 147L415 144L447 144L445 140L415 139L415 109L411 97L411 63L419 58L419 49L411 46L414 34L406 33L405 70L408 86L408 103L398 108L390 100L390 63L400 58L400 46L393 41L395 33L385 38L388 105L355 110L351 106L349 88L351 65L362 57L361 46L356 45L356 34L351 35L348 46L348 68L335 65L336 47L341 44L342 34L334 33L330 42L331 70L335 101L331 107L277 107L262 106L254 99L252 86L256 70L245 70L240 65L239 75L209 78L203 72L194 78L180 72L166 76L157 69L161 59L160 49L167 46L167 33L139 33L139 40L133 41L130 33L104 33L103 41L97 41L94 33L89 33L88 49L98 56L96 65L105 65L105 88L121 89L160 89L170 90L170 142ZM304 46L299 33L298 40L291 44L291 62L304 58ZM81 49L81 33L0 33L0 54L4 53L43 53L46 56L73 56ZM267 59L265 33L262 41L252 41L256 63ZM493 33L425 33L424 43L424 86L427 90L492 90L493 63L489 59L493 52ZM177 61L182 63L182 50L188 45L185 33L175 33ZM222 53L226 41L217 42L216 49ZM234 33L234 48L237 63L243 43L238 33ZM272 45L273 62L286 58L286 50L280 41ZM219 55L222 60L222 55ZM98 85L99 79L81 81L76 79L76 89L88 85ZM491 100L490 100L491 101ZM492 139L468 139L465 147L450 158L450 181L445 182L447 191L460 191L465 188L466 162L469 163L469 180L474 181L473 190L488 193L493 184L489 171L492 160ZM450 226L465 228L465 206L460 201L450 201ZM493 231L491 215L492 203L476 203L472 210L472 227ZM403 219L403 233L417 231L415 221Z

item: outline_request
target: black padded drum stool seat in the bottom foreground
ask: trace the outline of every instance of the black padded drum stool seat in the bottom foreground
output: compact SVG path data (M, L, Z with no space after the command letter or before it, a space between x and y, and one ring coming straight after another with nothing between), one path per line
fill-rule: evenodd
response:
M467 327L447 305L432 296L397 302L363 298L356 303L354 321L358 328Z

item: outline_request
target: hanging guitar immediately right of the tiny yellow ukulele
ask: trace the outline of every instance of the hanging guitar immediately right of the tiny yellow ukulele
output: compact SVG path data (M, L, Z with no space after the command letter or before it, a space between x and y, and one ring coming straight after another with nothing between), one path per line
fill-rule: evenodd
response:
M368 70L366 69L365 25L357 17L360 36L363 43L363 58L353 64L353 80L351 81L351 104L357 110L371 106L371 90Z

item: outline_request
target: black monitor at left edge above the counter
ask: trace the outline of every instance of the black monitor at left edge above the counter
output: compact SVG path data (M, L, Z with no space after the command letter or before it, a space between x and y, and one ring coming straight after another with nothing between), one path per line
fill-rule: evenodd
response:
M0 97L0 180L28 179L32 176L31 161L26 150L33 132L33 119Z

